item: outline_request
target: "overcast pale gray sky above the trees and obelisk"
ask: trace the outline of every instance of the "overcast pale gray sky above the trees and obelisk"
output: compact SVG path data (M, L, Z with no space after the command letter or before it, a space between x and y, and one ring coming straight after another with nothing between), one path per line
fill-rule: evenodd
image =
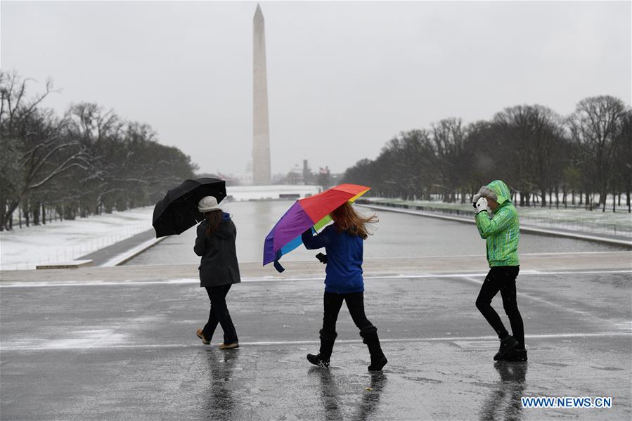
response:
M256 2L1 1L1 67L146 122L202 171L252 151ZM631 101L631 2L261 2L272 169L343 171L399 131ZM40 89L41 89L40 85ZM35 89L35 86L34 86Z

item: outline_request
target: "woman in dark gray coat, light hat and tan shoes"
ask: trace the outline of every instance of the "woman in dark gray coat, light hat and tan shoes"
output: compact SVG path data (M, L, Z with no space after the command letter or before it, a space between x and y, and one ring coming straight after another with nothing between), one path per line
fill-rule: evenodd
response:
M198 203L198 210L204 214L205 220L198 225L198 238L193 250L202 257L200 287L206 288L211 310L209 321L196 333L204 344L210 344L219 323L224 330L224 343L219 345L219 349L235 349L239 347L239 340L226 306L226 294L231 285L241 282L235 249L237 228L231 216L217 207L215 197L203 197Z

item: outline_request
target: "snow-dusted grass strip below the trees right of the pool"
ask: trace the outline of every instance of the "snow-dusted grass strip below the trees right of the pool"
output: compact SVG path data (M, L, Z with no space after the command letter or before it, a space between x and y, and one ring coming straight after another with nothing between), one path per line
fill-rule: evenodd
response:
M370 197L369 200L376 205L394 203L396 205L423 206L434 209L450 209L460 212L473 212L469 203L444 203L428 200L401 200ZM598 209L588 211L586 209L555 209L555 205L548 207L517 207L520 222L525 225L543 226L549 228L563 228L588 233L602 233L615 235L632 235L632 215L626 211L612 209L601 212ZM426 209L432 211L432 209ZM439 211L440 212L440 211Z

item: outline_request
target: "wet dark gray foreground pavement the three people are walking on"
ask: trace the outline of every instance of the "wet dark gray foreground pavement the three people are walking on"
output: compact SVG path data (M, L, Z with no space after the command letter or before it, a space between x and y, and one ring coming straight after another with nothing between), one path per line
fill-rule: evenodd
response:
M217 349L221 330L214 346L195 337L208 311L195 280L124 280L0 284L3 420L632 417L629 268L521 273L528 363L492 360L498 340L474 305L482 276L370 278L366 313L389 358L374 375L346 308L332 368L305 360L318 348L321 280L234 285L235 351ZM499 297L492 305L508 326ZM522 408L522 396L610 396L612 408Z

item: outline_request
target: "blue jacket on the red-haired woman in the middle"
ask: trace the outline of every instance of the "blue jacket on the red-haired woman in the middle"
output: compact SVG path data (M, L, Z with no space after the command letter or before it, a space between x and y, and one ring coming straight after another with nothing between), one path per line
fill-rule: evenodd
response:
M338 232L335 224L326 226L318 235L311 229L302 235L308 250L325 247L327 266L325 268L325 291L335 294L350 294L364 291L362 278L363 240L358 235Z

